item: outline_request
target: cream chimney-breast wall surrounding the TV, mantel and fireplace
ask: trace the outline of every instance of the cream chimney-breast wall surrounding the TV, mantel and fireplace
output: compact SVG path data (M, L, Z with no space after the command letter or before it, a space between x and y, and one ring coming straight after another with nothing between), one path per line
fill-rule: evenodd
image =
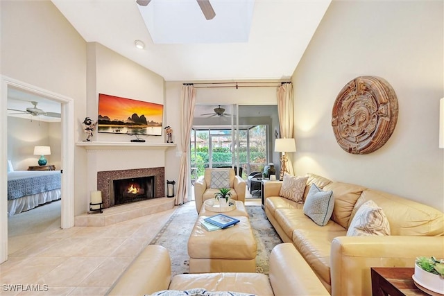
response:
M124 58L96 42L87 44L87 112L94 121L99 110L99 94L110 94L139 101L164 104L164 79L153 71ZM164 116L167 109L164 108ZM163 133L162 133L163 134ZM82 135L85 139L85 134ZM150 143L163 143L163 136L140 136ZM93 141L130 142L134 136L126 134L103 134L95 132ZM165 166L165 152L160 149L146 150L88 150L88 191L97 190L97 172L153 168ZM89 194L77 199L78 211L89 208Z

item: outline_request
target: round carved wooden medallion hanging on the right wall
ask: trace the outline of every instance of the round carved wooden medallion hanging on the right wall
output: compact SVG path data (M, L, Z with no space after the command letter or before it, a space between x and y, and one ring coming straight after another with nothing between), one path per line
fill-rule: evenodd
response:
M360 76L341 89L332 111L334 136L343 150L367 154L384 146L398 121L398 98L383 78Z

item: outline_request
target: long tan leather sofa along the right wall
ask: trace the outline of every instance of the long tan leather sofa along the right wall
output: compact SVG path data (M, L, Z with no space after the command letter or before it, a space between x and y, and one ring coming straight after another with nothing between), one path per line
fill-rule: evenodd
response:
M279 196L282 182L264 184L264 206L282 241L293 243L331 295L371 295L370 267L413 267L416 256L444 258L443 212L314 174L308 174L304 200L313 183L333 191L333 214L325 226L305 216L303 204ZM346 236L357 209L367 200L383 209L390 236Z

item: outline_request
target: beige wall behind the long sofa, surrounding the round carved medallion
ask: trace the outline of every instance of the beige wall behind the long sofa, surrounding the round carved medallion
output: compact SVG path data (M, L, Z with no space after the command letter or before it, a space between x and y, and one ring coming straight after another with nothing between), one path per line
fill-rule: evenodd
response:
M443 1L332 2L293 74L297 174L318 173L443 210L443 11ZM364 75L392 85L399 117L382 148L352 155L336 143L332 106L348 81Z

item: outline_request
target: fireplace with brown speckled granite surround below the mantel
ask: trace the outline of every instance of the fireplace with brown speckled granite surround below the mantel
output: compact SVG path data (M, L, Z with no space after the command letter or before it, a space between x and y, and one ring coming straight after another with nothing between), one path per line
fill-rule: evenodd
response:
M146 178L146 180L142 181L144 178ZM116 202L115 198L113 198L113 195L115 195L114 191L119 190L123 192L123 189L120 189L120 184L116 186L115 181L123 182L123 180L127 180L126 182L134 180L133 189L131 190L137 190L134 189L134 187L138 186L139 193L131 193L131 195L125 194L125 197L122 196L121 198L118 198L119 202ZM102 191L103 209L114 207L118 204L128 203L130 202L129 200L137 202L139 200L147 200L151 198L162 198L165 196L164 182L164 167L97 172L97 190ZM143 189L144 196L140 193L140 189Z

